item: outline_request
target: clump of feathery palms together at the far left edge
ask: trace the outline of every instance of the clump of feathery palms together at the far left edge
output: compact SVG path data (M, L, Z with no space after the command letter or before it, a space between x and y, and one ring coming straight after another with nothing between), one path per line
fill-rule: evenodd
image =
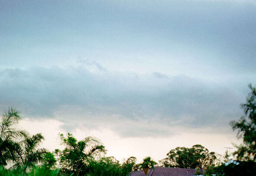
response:
M20 120L19 113L14 108L4 111L0 123L0 166L12 161L15 168L31 168L43 161L46 149L37 149L44 137L41 133L29 137L26 131L14 127Z

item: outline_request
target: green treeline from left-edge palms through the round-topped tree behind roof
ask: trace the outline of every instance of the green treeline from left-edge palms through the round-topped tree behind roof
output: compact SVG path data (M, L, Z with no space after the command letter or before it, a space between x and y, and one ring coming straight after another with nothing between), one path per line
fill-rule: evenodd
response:
M20 120L14 108L4 111L0 126L0 175L127 175L152 166L205 168L220 161L217 154L201 145L172 149L165 159L154 162L146 157L136 164L136 157L120 163L114 157L105 157L106 149L95 137L77 140L72 134L59 134L63 150L39 148L44 137L41 133L30 136L25 130L16 130ZM5 169L5 167L9 169Z

